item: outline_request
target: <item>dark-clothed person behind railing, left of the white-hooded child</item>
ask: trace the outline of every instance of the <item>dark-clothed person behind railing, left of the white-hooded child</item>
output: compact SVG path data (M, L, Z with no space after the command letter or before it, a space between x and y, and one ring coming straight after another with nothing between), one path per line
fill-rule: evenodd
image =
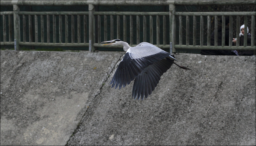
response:
M222 20L220 20L222 23ZM214 46L214 31L211 34L211 40L210 45ZM218 46L222 45L222 28L218 28ZM205 44L207 45L207 44ZM225 17L225 46L229 46L229 17ZM238 53L236 50L201 50L202 55L236 55L238 56Z

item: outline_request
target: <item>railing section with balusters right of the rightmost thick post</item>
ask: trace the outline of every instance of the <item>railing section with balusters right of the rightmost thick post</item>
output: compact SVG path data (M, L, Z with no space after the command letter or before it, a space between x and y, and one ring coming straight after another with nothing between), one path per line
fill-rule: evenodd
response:
M255 12L175 12L174 15L179 18L179 44L176 44L174 48L176 49L212 49L212 50L255 50ZM182 16L186 16L186 44L182 43L183 32L182 32ZM193 16L193 43L189 43L189 16ZM203 43L203 16L207 16L207 45ZM214 16L214 46L210 45L211 41L211 19ZM225 46L225 16L229 17L229 45ZM239 46L239 33L240 33L240 17L244 16L244 25L247 28L248 17L251 16L251 45L247 46L247 41L244 41L243 46ZM200 45L196 45L196 17L200 17ZM222 19L222 44L218 46L218 17ZM233 36L233 17L236 17L236 46L232 46L232 36ZM224 31L223 31L224 30ZM247 34L247 29L244 29L244 33ZM244 36L247 40L247 35Z

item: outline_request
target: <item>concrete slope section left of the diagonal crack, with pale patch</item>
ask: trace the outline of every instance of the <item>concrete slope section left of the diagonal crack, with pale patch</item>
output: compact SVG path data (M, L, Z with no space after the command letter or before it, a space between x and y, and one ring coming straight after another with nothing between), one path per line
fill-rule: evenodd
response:
M122 55L1 51L1 145L65 145Z

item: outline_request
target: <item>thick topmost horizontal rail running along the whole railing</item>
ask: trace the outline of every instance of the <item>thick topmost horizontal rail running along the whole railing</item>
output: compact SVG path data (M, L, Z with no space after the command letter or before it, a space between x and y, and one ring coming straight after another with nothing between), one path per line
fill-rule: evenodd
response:
M146 5L146 6L163 6L163 5L255 5L255 1L241 1L241 0L210 0L210 1L183 1L183 0L175 0L175 1L76 1L76 0L65 0L65 1L36 1L36 0L23 0L17 1L16 5L19 6L70 6L70 5L102 5L102 6L137 6L137 5ZM13 2L11 1L0 1L0 4L3 6L12 6Z

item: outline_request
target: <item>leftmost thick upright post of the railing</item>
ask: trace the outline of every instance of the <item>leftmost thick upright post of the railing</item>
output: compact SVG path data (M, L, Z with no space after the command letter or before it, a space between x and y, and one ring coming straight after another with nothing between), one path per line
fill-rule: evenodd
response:
M20 8L17 5L18 1L12 1L13 4L13 24L14 24L14 49L20 50L20 17L19 12Z

